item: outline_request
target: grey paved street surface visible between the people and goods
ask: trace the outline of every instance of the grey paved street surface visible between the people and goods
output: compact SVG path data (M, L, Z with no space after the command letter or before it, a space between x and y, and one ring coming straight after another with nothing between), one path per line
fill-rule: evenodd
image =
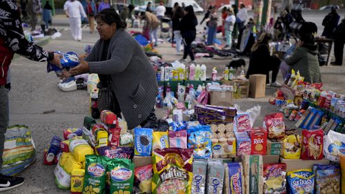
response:
M310 12L304 14L304 19L317 23L319 34L323 28L321 21L326 12ZM341 14L344 18L344 12ZM201 16L198 16L201 21ZM63 15L57 15L53 19L55 27L62 31L62 37L50 40L43 48L47 50L61 50L63 52L74 51L83 53L87 44L93 45L98 39L98 34L90 34L88 28L83 29L82 41L73 41L68 30L67 19ZM199 28L199 27L198 27ZM180 59L175 55L175 48L169 43L163 43L157 47L159 54L166 61ZM333 54L333 52L332 52ZM214 66L218 72L224 70L230 59L197 59L198 64L206 64L208 73ZM189 58L188 58L189 59ZM263 61L264 62L264 61ZM248 64L248 60L247 60ZM90 99L86 90L64 93L57 88L59 79L55 73L46 72L46 63L30 61L23 57L16 57L12 61L12 90L10 91L10 124L26 124L32 130L32 137L37 148L37 161L26 171L19 175L26 177L23 186L3 193L70 193L57 188L54 178L54 166L43 164L43 151L48 147L53 135L62 137L63 128L75 128L82 126L83 117L89 115ZM324 89L331 89L337 93L345 93L345 67L327 66L321 67ZM282 82L279 73L278 81ZM125 86L124 86L125 87ZM275 112L275 106L268 104L268 98L274 93L275 88L266 89L266 97L262 99L241 99L235 102L242 110L255 105L262 106L262 115L257 118L255 126L261 126L264 115ZM55 113L43 114L45 110L55 110ZM159 113L162 111L159 110ZM286 122L288 128L292 128L291 122Z

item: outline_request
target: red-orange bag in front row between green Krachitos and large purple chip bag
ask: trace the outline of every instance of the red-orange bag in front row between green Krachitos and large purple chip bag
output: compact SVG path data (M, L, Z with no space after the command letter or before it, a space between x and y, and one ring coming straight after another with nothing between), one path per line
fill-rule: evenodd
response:
M152 164L134 169L134 193L151 193Z

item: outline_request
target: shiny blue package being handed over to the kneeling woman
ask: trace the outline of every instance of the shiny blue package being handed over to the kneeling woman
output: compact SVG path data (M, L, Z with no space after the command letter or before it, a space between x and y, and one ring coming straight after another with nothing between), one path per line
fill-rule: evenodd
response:
M47 72L55 71L58 75L61 73L62 70L70 70L70 68L74 68L75 66L79 65L79 57L75 52L60 52L56 51L55 53L62 55L60 59L62 68L50 64L48 62L47 65Z

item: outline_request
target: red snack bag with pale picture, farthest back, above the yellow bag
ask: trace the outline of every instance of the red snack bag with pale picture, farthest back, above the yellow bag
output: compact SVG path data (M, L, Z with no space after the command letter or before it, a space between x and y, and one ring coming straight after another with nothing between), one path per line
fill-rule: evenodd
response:
M269 139L282 139L285 136L285 124L283 113L274 113L265 116L264 126L266 126Z

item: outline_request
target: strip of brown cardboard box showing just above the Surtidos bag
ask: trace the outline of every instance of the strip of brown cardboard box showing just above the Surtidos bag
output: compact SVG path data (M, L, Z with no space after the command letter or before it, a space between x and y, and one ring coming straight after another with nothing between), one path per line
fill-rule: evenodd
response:
M280 162L286 164L286 171L295 171L302 168L313 168L314 164L329 164L328 159L303 160L303 159L284 159L280 157Z

